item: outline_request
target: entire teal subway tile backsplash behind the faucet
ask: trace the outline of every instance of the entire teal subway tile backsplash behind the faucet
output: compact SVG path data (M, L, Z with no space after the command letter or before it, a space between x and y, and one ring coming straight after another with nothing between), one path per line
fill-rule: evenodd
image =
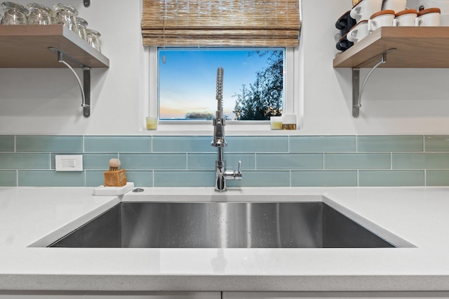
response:
M111 158L142 187L215 185L211 136L0 136L0 186L100 186ZM227 136L229 187L449 186L449 136ZM83 155L55 172L55 155Z

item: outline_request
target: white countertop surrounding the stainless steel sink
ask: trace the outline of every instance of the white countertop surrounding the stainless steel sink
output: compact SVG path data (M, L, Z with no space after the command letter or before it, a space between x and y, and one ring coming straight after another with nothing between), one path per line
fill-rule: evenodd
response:
M121 197L92 193L93 188L0 188L1 290L449 291L449 188L242 188L220 195L213 188L145 188ZM173 198L330 199L351 216L415 247L33 247L62 237L121 200Z

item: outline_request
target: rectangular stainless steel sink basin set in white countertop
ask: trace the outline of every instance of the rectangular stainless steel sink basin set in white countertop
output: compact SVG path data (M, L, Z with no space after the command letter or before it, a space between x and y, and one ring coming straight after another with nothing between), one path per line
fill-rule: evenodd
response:
M394 247L324 202L121 202L49 246Z

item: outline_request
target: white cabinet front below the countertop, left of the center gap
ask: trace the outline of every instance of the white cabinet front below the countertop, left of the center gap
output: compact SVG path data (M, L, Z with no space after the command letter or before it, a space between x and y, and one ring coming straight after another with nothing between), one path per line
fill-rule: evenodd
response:
M0 299L220 299L220 292L45 292L0 291Z

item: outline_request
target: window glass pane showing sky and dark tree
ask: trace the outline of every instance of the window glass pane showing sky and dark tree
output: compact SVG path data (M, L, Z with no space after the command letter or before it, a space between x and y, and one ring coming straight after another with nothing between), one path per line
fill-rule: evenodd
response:
M215 117L217 68L225 69L223 115L269 120L283 109L285 48L159 48L159 119Z

